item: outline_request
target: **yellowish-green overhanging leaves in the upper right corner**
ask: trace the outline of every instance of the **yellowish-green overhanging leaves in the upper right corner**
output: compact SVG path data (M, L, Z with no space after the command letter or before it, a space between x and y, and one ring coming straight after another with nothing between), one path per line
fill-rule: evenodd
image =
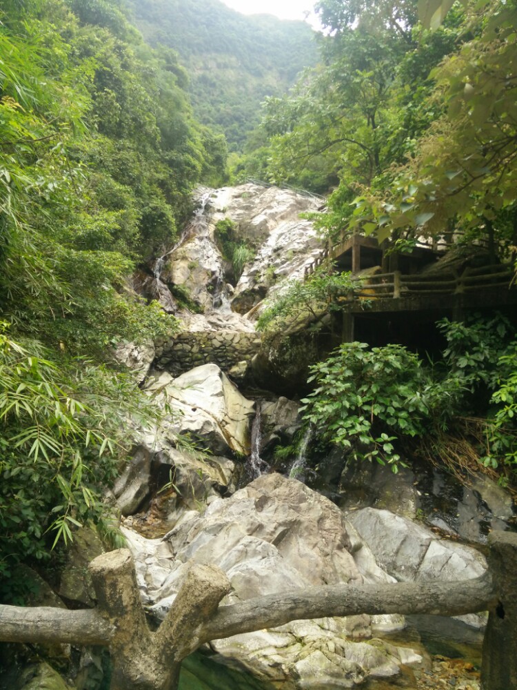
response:
M388 197L358 200L383 233L440 235L452 221L495 235L503 256L515 244L516 19L514 2L467 4L460 47L432 72L443 113L392 170Z

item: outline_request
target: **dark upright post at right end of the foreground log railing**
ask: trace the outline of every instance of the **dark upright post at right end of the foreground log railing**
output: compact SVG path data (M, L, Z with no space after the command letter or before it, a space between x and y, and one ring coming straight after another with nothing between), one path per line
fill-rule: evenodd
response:
M482 690L517 690L517 534L492 532L489 570L498 594L483 640Z

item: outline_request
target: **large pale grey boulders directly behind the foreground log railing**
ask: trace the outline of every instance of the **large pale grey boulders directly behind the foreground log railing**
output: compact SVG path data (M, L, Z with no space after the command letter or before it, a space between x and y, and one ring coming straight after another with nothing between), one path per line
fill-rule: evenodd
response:
M425 571L426 558L420 558L414 577L439 573L454 580L483 570L483 559L472 549L442 543L418 526L411 531L387 511L367 510L347 520L337 506L301 482L268 474L229 499L214 500L204 515L183 515L164 540L126 534L143 599L158 615L170 607L191 562L216 563L227 573L233 588L228 603L320 584L393 582L394 575L406 573L401 564L397 569L388 562L393 574L384 567L386 554L379 542L386 532L379 535L366 528L385 520L391 521L387 528L392 529L392 540L404 545L394 546L401 558L405 549L419 554L425 543L434 570ZM401 664L421 664L419 649L402 649L376 638L380 631L402 626L401 616L298 621L214 641L212 647L270 682L311 690L346 688L360 685L367 676L394 676Z

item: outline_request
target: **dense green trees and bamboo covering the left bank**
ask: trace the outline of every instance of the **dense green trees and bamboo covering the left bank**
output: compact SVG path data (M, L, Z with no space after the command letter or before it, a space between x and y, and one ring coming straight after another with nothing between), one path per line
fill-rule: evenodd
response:
M178 329L128 289L169 247L221 137L185 72L118 1L6 0L0 23L0 574L105 522L101 491L149 418L114 364L123 339ZM156 417L156 410L152 411ZM16 583L14 583L16 584Z

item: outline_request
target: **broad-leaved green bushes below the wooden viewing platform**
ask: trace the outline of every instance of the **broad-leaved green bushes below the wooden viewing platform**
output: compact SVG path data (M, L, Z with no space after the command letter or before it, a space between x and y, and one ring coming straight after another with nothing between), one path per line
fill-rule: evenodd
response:
M447 444L467 436L478 467L499 468L515 483L515 329L500 315L443 319L438 327L447 347L434 366L401 345L342 344L312 367L315 388L302 401L304 419L350 457L388 463L394 471L402 451L418 444L454 464ZM412 439L418 444L408 444Z

